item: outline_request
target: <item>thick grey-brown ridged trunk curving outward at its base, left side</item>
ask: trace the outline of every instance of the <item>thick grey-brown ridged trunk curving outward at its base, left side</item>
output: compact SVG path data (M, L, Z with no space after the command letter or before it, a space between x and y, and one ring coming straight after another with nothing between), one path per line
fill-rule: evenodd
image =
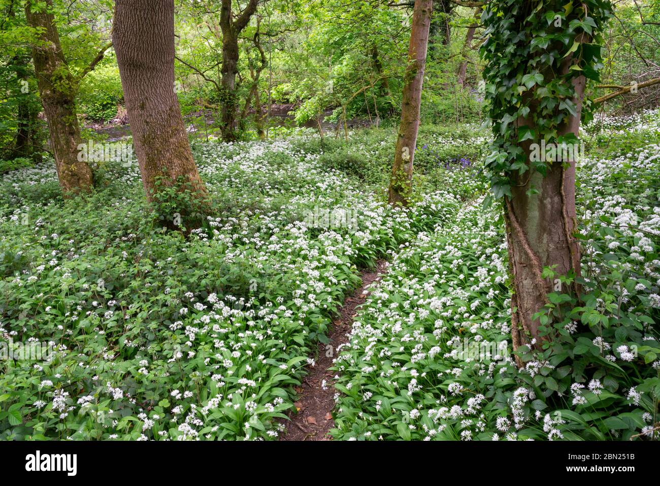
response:
M112 38L147 199L162 177L164 186L182 184L205 202L174 92L174 0L158 0L158 8L153 0L117 0Z

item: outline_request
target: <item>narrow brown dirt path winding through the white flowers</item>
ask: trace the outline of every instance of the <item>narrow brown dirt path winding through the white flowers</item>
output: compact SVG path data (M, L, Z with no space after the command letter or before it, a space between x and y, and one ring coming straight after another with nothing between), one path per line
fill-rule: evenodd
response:
M362 286L350 295L339 309L340 316L333 322L328 335L330 342L319 343L319 351L314 367L308 367L308 375L302 382L302 388L296 388L299 394L296 401L297 414L290 413L290 421L286 422L286 432L280 440L331 440L330 429L335 427L332 410L335 407L335 388L333 387L334 372L328 370L333 365L337 346L347 343L348 333L355 317L355 308L364 304L368 291L366 287L380 281L387 269L387 262L380 260L376 268L362 272ZM331 346L329 348L328 346ZM333 353L327 353L332 349ZM332 354L332 357L326 356ZM325 390L323 389L325 380Z

